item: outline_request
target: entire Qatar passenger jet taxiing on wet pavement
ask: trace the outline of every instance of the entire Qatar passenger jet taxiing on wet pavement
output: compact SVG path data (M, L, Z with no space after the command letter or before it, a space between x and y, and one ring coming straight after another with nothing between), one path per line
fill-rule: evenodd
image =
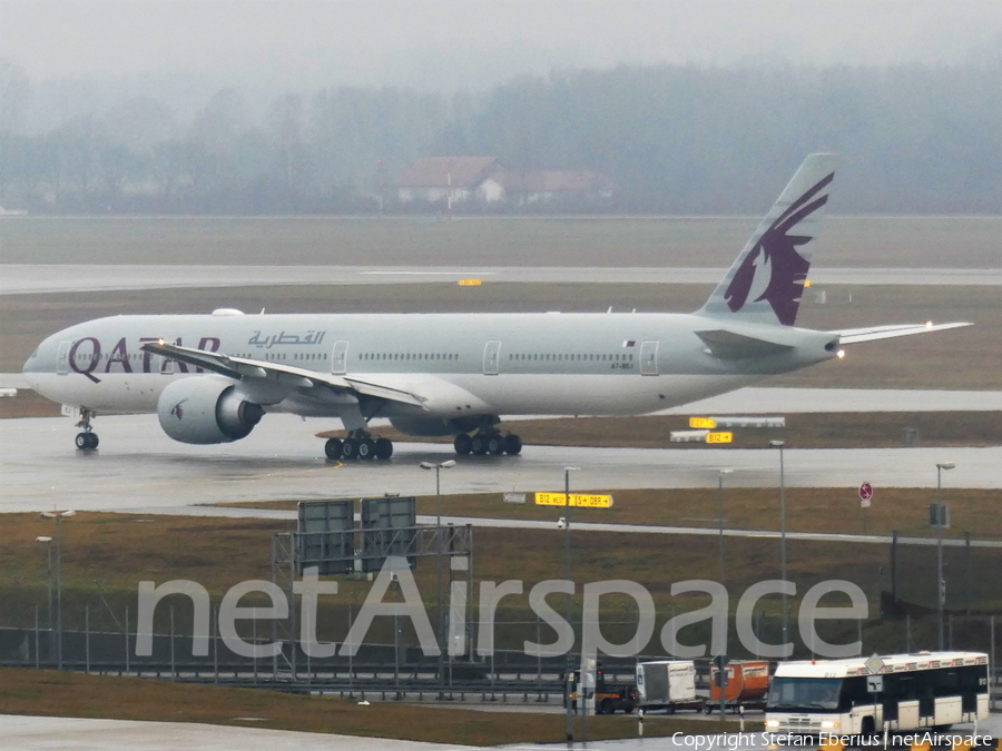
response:
M692 314L129 315L48 337L24 364L39 394L78 412L156 413L171 438L247 436L271 412L340 418L331 458L381 458L402 433L458 454L518 454L505 415L640 415L837 357L844 345L967 324L797 328L834 177L807 157L706 304ZM266 429L267 421L258 429Z

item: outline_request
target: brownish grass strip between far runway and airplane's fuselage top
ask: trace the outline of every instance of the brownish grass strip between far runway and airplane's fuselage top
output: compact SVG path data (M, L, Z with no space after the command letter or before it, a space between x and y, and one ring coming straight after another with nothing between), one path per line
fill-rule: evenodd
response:
M71 324L130 313L208 313L227 306L269 313L421 313L564 310L690 312L709 295L700 285L455 284L341 287L160 289L0 296L0 372L20 372L46 336ZM848 294L852 291L852 302ZM970 320L952 332L851 347L844 360L772 378L774 386L999 389L1002 306L992 287L833 287L808 296L798 325L837 329L883 323Z

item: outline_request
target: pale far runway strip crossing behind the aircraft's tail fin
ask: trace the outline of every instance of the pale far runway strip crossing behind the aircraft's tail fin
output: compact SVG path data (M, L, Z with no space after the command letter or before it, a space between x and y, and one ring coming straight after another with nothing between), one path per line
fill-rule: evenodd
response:
M551 284L716 284L725 268L484 267L484 266L185 266L6 264L0 294L459 281ZM818 285L1002 286L999 268L815 268Z

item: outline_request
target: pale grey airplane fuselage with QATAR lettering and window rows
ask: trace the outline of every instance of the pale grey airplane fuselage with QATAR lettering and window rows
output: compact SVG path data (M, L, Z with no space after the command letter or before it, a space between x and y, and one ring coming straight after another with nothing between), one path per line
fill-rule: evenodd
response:
M47 338L24 375L63 404L155 412L169 383L200 373L140 348L164 340L422 395L421 408L387 404L381 416L633 415L835 356L831 335L789 327L782 334L790 346L778 354L721 358L696 334L716 326L679 314L115 316ZM297 393L268 408L337 416L340 405Z

